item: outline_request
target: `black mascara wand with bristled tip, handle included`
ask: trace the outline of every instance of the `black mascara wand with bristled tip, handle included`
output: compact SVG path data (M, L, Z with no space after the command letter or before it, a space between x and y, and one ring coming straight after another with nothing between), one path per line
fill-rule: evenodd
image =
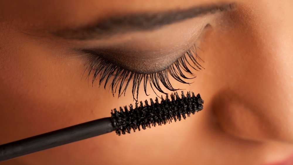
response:
M159 103L158 98L155 102L150 99L150 104L145 101L136 103L135 107L130 104L120 107L120 111L112 110L111 117L101 118L86 123L81 123L60 130L55 130L45 134L29 137L23 140L0 145L0 161L20 157L26 154L42 151L45 149L61 146L71 142L84 140L90 137L103 135L115 131L117 135L130 133L135 130L146 129L147 127L162 125L185 119L186 115L194 114L203 109L203 100L200 94L197 96L192 92L187 92L185 96L183 91L181 98L178 93L171 94L171 100L166 99Z

